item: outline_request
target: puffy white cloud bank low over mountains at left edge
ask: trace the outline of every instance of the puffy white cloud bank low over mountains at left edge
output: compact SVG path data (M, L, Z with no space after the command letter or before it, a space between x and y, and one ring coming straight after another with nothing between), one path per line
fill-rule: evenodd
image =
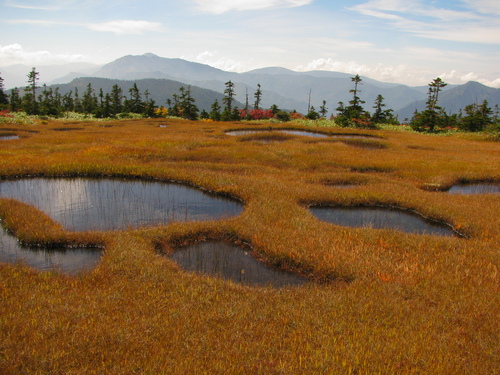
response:
M17 43L5 46L0 45L0 66L14 64L64 64L87 60L85 56L77 54L53 54L48 51L28 51Z

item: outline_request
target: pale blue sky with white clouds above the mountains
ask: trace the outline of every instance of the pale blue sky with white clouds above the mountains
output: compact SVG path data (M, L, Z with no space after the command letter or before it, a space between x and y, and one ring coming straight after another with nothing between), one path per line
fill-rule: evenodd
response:
M499 0L0 0L1 67L154 53L500 88ZM6 78L6 77L3 77Z

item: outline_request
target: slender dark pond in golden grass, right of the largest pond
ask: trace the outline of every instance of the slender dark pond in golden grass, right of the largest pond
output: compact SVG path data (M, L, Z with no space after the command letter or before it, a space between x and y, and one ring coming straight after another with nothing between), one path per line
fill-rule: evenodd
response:
M448 225L426 220L418 214L385 207L311 207L318 219L347 227L396 229L407 233L454 236Z

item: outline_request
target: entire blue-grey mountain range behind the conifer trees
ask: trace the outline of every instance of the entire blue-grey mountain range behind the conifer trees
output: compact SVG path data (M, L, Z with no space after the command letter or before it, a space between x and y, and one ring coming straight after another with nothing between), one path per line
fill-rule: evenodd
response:
M21 66L1 68L1 75L10 87L7 79L10 73L19 75ZM74 68L74 69L72 69ZM24 67L24 82L31 67ZM242 108L248 95L249 104L255 101L254 93L257 84L261 85L261 106L269 108L276 104L279 108L299 112L306 112L309 103L316 109L326 101L330 113L335 113L338 102L348 104L352 98L349 90L353 88L351 77L346 73L329 71L295 72L285 68L270 67L252 70L245 73L226 72L209 65L189 62L182 59L170 59L146 53L139 56L124 56L109 64L95 66L90 64L70 65L59 67L59 76L49 67L37 67L40 76L44 74L52 79L51 84L64 87L82 87L85 89L88 82L96 90L102 88L105 92L116 83L116 80L131 81L128 84L120 83L124 94L136 81L141 91L146 89L152 94L157 104L165 104L168 97L178 92L181 85L190 85L197 106L208 110L215 99L223 97L225 82L231 80L235 84L238 107ZM9 73L10 72L10 73ZM82 77L74 80L76 77ZM90 78L92 77L92 78ZM96 80L106 78L106 80ZM431 77L429 82L435 77ZM362 77L362 86L359 96L365 101L364 108L372 110L377 95L384 97L386 108L392 108L401 121L411 118L413 112L425 108L427 86L410 87L401 84L379 82ZM43 79L44 81L46 79ZM71 83L68 83L71 82ZM21 86L26 85L24 83ZM100 86L101 85L101 86ZM105 85L105 86L104 86ZM128 85L128 86L127 86ZM80 90L80 88L79 88ZM449 113L457 113L466 105L481 103L488 100L491 107L500 105L500 89L484 86L477 82L468 82L464 85L448 85L441 94L439 105Z

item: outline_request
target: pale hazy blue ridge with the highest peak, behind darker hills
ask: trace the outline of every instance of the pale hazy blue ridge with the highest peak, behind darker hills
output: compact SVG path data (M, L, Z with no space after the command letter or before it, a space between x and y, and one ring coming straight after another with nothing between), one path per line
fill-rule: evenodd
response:
M253 95L257 90L257 84L260 84L263 91L261 105L264 108L276 104L283 109L295 109L304 113L307 112L309 94L311 93L311 105L318 109L325 100L330 113L332 113L335 112L339 101L347 104L351 100L349 93L352 88L351 76L346 73L295 72L280 67L233 73L204 64L162 58L153 54L124 56L104 65L96 72L96 76L137 79L154 75L158 78L158 72L165 74L163 78L175 79L219 92L223 92L224 83L231 80L235 84L237 99L240 102L245 102L248 93L250 105L254 103ZM222 85L217 82L222 83ZM386 103L395 110L425 97L421 91L414 90L409 86L382 83L364 78L360 96L366 101L367 109L371 108L373 105L371 103L374 103L378 94L382 94L386 98Z

